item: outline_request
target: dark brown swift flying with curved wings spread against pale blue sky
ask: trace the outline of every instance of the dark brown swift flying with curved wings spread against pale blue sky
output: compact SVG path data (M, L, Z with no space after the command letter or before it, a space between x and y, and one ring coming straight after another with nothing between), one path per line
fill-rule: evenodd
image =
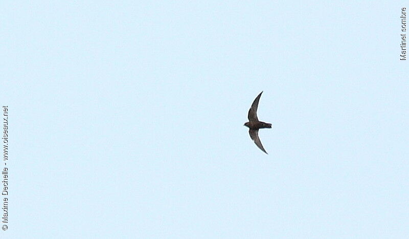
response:
M248 110L248 122L244 123L244 125L249 128L248 134L250 134L250 138L252 138L252 140L256 143L257 147L259 147L261 150L263 150L264 153L268 155L263 145L261 144L261 141L259 138L260 128L271 128L270 123L259 121L259 119L257 118L257 107L259 106L259 100L260 100L261 94L263 94L263 92L261 92L256 97L256 99L254 99L252 107L250 107L250 110Z

